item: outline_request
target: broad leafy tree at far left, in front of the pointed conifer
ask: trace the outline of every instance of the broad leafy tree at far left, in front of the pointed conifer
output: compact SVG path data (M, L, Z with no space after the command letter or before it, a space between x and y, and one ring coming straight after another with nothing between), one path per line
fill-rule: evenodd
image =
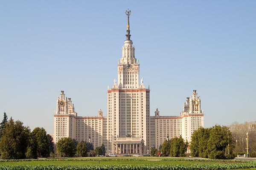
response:
M11 118L0 140L1 159L24 159L29 142L29 127Z

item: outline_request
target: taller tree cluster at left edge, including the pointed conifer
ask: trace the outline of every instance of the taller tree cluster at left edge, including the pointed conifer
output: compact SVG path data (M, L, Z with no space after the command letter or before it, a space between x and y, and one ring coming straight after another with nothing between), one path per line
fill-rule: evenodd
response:
M36 127L32 132L20 121L8 120L3 113L0 123L1 159L36 159L49 157L54 152L52 136L43 127Z

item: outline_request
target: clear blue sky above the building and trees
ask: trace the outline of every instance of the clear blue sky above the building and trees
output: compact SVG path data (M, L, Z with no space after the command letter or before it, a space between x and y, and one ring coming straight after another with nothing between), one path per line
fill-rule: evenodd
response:
M151 89L151 115L180 115L201 96L204 125L255 121L256 1L8 0L0 5L3 112L53 133L61 90L79 116L107 115L126 34Z

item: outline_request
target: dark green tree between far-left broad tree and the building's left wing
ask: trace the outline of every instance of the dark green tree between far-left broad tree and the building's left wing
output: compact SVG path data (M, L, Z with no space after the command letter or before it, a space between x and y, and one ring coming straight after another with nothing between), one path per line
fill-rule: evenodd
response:
M50 143L49 138L47 136L47 132L43 127L35 127L32 131L32 135L35 136L37 142L37 154L38 157L47 158L50 156Z

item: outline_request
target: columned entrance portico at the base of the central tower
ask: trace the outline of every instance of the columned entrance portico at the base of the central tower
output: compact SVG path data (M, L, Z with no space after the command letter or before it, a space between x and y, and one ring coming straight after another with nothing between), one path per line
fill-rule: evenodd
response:
M113 144L117 154L144 153L144 140L141 138L117 138Z

